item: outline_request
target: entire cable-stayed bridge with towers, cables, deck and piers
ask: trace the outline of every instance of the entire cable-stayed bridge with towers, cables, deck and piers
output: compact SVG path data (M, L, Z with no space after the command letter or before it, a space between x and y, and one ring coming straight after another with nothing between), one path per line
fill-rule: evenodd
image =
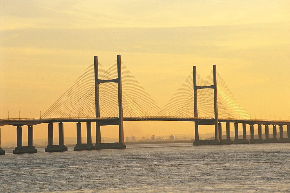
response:
M213 65L212 73L205 80L202 80L193 66L192 73L161 109L122 63L120 55L117 55L117 61L107 71L98 63L97 56L94 56L94 62L88 69L40 118L0 119L0 126L17 127L17 146L13 150L17 154L37 152L33 144L33 126L42 123L48 123L46 152L67 151L64 145L65 122L76 122L77 144L74 150L126 148L124 121L194 122L193 145L290 142L290 120L251 119L217 73L216 65ZM81 143L81 122L86 122L86 144ZM92 144L91 122L96 123L95 146ZM222 139L222 122L226 123L226 139ZM52 123L58 123L59 145L53 142ZM230 123L234 123L233 141L230 139ZM242 139L238 137L238 123L242 123ZM119 142L101 142L101 126L104 125L119 126ZM199 125L214 125L215 139L199 139ZM250 140L246 138L247 125L250 125ZM256 139L254 125L258 125ZM273 129L273 138L269 138L269 125ZM22 126L28 126L28 146L22 146ZM283 126L287 127L287 137L283 136ZM0 138L1 154L5 154L5 151L1 148Z

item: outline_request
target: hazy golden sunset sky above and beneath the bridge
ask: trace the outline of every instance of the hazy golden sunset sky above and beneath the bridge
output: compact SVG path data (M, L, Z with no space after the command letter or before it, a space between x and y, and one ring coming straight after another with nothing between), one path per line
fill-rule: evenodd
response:
M23 118L29 112L39 117L94 55L108 69L121 54L161 108L193 65L206 78L216 64L252 118L289 119L288 0L3 0L0 8L0 118L7 118L8 111L10 118L18 118L19 111ZM193 125L125 122L124 134L194 133ZM47 124L34 128L35 139L47 138ZM16 139L16 127L1 129L2 142ZM208 132L213 129L200 130ZM102 130L103 136L118 136L110 133ZM75 136L75 125L65 124L65 137Z

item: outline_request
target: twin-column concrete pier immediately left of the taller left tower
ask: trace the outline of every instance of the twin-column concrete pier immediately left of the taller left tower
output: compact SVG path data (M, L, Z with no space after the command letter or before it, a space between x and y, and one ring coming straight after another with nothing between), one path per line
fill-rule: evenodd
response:
M77 144L73 148L74 151L81 151L81 150L95 150L95 146L92 144L92 128L91 122L87 122L87 143L81 143L81 123L77 123Z

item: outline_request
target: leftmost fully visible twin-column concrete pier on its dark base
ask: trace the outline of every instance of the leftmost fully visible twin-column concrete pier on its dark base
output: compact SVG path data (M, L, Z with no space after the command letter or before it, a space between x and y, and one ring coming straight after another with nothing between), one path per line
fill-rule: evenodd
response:
M17 146L13 150L13 154L21 153L37 153L37 149L33 145L33 127L28 126L28 146L22 146L22 126L17 126Z

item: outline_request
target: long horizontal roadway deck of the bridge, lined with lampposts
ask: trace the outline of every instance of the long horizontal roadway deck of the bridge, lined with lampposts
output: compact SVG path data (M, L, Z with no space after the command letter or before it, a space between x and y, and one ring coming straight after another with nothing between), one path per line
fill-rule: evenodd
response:
M118 117L64 117L64 118L21 118L21 119L0 119L0 126L4 125L37 125L41 123L59 123L59 122L101 122L101 125L113 125L118 122ZM198 121L200 125L214 124L214 118L211 117L124 117L124 121ZM103 122L103 124L102 124ZM219 118L218 122L246 123L249 125L290 125L289 120L260 120L260 119L232 119Z

